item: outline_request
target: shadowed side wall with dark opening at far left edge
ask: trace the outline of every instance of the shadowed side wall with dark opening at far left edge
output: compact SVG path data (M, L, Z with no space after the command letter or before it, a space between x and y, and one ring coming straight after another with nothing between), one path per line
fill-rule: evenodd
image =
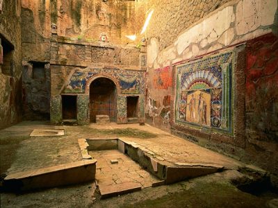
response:
M3 1L0 12L0 129L22 118L20 1ZM6 51L9 50L9 57ZM3 50L3 51L2 51ZM3 53L4 52L4 53Z

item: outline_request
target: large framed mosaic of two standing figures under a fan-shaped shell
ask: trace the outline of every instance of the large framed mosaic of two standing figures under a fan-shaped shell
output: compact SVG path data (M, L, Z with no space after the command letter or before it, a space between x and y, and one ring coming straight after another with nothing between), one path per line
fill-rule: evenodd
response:
M175 122L232 132L233 52L177 66Z

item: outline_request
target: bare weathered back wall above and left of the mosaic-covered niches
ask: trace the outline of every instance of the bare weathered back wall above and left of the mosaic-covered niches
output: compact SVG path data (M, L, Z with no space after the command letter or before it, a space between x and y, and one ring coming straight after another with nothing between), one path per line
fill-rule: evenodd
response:
M51 95L58 95L70 73L69 66L88 67L91 62L139 65L135 47L131 50L115 46L130 43L125 35L134 34L134 1L22 0L21 6L26 69L24 119L49 117L48 80L51 80ZM32 76L33 63L50 63L53 67L45 69L44 79L36 80ZM38 92L44 93L38 95Z

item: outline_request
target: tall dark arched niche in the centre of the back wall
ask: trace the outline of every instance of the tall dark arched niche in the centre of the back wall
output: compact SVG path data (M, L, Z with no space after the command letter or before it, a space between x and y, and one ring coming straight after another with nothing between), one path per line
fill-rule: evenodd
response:
M96 115L107 115L116 121L117 89L108 78L97 78L90 85L90 122L96 122Z

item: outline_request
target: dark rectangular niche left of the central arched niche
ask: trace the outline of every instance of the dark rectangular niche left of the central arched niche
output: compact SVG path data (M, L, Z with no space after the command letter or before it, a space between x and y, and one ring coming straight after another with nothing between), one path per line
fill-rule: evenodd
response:
M76 96L62 96L63 120L77 118L76 106Z

